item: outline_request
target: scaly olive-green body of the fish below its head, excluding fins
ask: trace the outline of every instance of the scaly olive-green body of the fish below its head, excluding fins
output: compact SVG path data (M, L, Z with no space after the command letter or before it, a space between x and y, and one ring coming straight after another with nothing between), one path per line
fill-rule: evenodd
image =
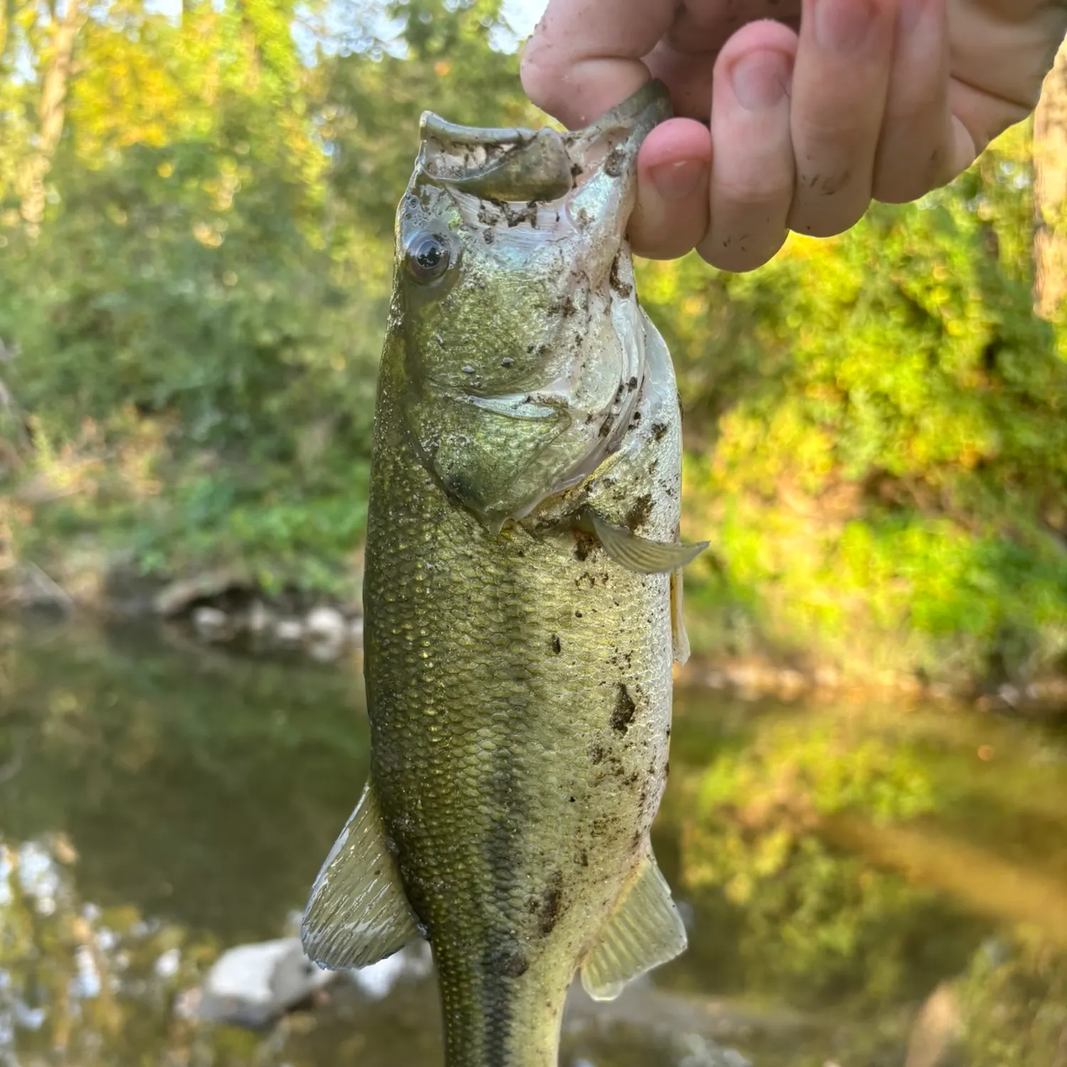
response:
M425 482L408 456L394 460L383 491L400 490L404 473ZM555 1063L555 1016L574 960L646 846L658 802L666 579L610 574L600 550L579 561L573 539L493 538L425 483L421 504L433 531L421 542L429 584L418 542L398 547L387 526L368 536L365 596L383 605L365 637L380 665L368 671L371 774L409 897L431 930L449 1064L543 1067ZM598 569L609 574L606 603L579 580ZM624 732L611 727L619 685L635 694ZM425 729L428 717L435 730ZM413 795L417 824L391 816L408 812ZM561 914L551 933L570 947L539 959L544 922L531 902L544 901L556 871ZM588 901L570 898L579 879L591 883ZM543 1033L551 1040L539 1049Z

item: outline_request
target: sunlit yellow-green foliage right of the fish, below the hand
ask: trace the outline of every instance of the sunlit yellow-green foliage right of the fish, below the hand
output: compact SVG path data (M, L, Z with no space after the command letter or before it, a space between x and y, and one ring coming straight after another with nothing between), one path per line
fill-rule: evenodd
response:
M644 268L702 446L689 524L723 564L695 568L705 610L858 671L1062 666L1067 364L1031 310L1022 132L755 274Z

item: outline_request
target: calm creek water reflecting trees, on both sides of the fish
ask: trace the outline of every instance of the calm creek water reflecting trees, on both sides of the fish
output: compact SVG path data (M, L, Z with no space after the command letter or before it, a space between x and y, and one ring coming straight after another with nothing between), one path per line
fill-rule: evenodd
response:
M355 672L0 622L0 1062L437 1067L417 953L260 1032L198 1021L362 787ZM939 707L676 698L691 947L576 998L563 1067L1067 1067L1067 739Z

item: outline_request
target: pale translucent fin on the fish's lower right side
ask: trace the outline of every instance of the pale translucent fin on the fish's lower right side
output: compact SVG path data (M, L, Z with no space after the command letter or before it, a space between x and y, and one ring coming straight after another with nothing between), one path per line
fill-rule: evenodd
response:
M626 983L673 959L685 945L682 917L650 851L582 965L582 984L593 1000L615 1000Z

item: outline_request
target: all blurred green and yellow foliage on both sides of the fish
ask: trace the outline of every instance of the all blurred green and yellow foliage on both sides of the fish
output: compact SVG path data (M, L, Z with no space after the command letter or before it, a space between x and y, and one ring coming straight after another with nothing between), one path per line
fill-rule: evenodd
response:
M344 25L291 0L189 3L180 25L94 6L39 234L18 177L48 33L19 11L0 477L20 503L0 537L46 564L84 535L145 570L344 590L419 114L542 121L494 47L498 3L383 0ZM1030 156L1018 128L951 188L754 274L639 266L686 403L686 525L715 550L687 583L698 651L947 681L1067 664L1067 327L1031 310Z

